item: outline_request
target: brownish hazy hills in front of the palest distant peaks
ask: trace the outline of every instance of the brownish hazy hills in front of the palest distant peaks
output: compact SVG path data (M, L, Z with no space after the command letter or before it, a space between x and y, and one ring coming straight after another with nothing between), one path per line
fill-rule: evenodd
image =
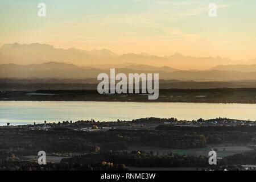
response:
M110 65L109 65L110 66ZM256 69L251 72L233 71L228 66L226 70L210 69L206 71L181 71L170 67L153 67L141 64L118 65L116 73L159 73L160 79L164 80L193 80L193 81L230 81L230 80L255 80ZM48 62L43 64L1 64L0 77L16 78L93 78L96 80L98 74L108 73L109 68L94 68L92 66L77 66L73 64ZM230 65L231 68L236 66ZM249 66L256 68L256 65ZM134 68L134 69L133 69ZM220 67L222 69L222 67Z

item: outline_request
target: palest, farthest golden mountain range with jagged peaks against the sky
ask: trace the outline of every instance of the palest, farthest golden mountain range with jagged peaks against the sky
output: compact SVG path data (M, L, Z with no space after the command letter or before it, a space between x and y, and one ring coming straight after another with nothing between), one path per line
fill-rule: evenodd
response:
M42 64L49 61L75 65L144 64L155 67L171 67L181 70L204 70L217 65L256 64L255 60L234 61L221 57L191 57L175 53L171 56L154 56L145 53L117 55L107 49L84 51L59 49L47 44L5 44L0 48L1 64ZM138 69L138 68L133 68ZM139 68L141 69L141 68ZM168 68L169 69L169 68Z

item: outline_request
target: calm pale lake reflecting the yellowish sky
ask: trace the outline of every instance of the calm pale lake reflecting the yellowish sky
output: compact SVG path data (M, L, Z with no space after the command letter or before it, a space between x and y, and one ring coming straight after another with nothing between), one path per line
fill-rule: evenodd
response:
M0 101L0 125L59 121L117 121L146 117L210 119L226 117L256 120L256 104L202 104L163 102L33 102Z

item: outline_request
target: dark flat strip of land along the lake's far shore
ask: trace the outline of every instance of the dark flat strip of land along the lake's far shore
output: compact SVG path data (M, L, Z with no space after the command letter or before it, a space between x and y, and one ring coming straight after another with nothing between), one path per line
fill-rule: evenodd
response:
M256 104L256 89L160 89L158 100L148 100L148 94L99 94L97 90L1 91L0 101Z

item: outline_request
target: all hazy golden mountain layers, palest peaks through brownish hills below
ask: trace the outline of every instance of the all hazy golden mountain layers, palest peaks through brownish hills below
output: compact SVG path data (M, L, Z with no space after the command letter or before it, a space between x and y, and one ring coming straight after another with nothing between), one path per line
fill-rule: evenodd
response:
M5 44L0 49L0 77L97 79L99 73L109 73L110 68L116 68L117 73L159 73L160 79L165 80L256 80L254 61L256 63L256 59L232 61L180 53L166 57L117 55L106 49L65 50L47 44L15 43Z

